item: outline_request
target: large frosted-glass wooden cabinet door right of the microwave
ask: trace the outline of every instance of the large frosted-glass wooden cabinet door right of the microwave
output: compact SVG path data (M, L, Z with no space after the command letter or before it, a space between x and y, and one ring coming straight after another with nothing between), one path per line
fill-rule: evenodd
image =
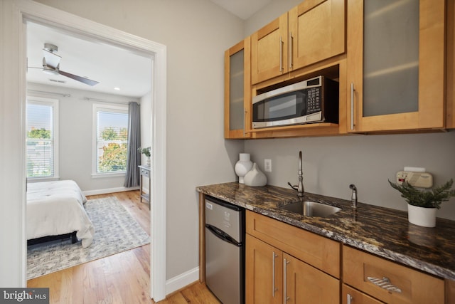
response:
M348 1L348 131L444 127L444 6Z

